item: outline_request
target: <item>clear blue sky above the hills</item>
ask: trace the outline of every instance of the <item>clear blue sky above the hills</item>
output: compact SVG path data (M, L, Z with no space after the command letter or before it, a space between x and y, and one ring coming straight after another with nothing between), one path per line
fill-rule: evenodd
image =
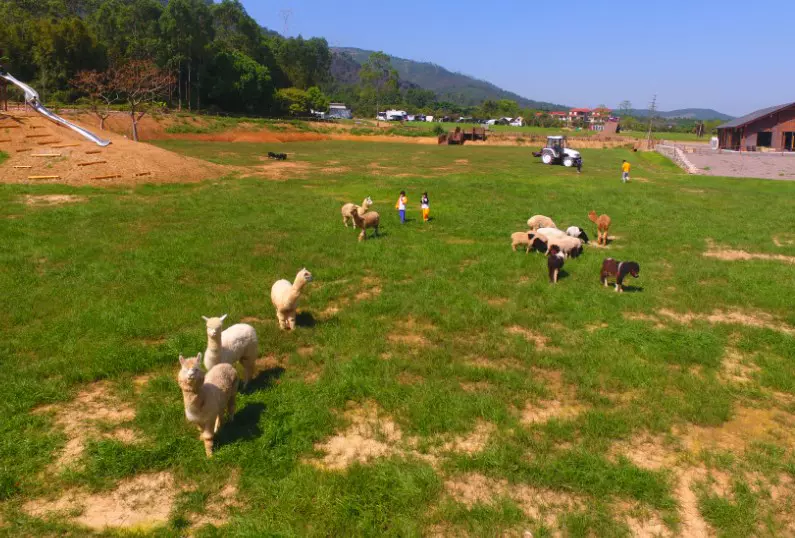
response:
M573 106L795 101L795 2L242 0L260 24L488 80Z

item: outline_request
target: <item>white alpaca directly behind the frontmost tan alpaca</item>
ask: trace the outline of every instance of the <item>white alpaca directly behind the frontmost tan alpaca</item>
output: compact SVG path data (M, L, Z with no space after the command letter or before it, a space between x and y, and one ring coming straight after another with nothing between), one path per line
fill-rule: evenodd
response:
M259 353L257 331L247 323L232 325L225 331L224 320L202 316L207 323L207 349L204 351L204 368L209 372L219 364L234 364L240 361L243 366L243 386L248 385L254 376L254 363Z

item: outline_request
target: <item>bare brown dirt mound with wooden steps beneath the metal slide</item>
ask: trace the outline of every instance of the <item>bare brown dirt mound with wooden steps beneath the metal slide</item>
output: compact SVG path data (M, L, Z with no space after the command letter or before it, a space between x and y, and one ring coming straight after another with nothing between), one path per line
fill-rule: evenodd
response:
M71 130L38 115L0 116L0 149L10 155L3 164L3 183L66 183L70 185L130 185L193 182L220 177L231 168L135 143L124 137L92 132L109 138L101 148Z

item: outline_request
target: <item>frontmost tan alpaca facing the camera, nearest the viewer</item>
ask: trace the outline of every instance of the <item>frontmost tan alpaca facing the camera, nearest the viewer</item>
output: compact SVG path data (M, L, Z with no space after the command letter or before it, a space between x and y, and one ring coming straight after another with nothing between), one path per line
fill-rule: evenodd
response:
M231 421L235 416L237 371L231 364L221 363L205 373L199 368L202 354L186 359L179 356L177 383L182 389L185 418L195 424L204 441L204 452L213 457L213 438L224 423L224 415Z

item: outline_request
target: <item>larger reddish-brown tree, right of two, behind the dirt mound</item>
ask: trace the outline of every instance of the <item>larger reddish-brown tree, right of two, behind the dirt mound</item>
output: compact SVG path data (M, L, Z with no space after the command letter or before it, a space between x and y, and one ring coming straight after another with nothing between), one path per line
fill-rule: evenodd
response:
M111 81L127 104L133 140L138 142L138 122L168 94L174 77L149 60L132 60L115 67Z

